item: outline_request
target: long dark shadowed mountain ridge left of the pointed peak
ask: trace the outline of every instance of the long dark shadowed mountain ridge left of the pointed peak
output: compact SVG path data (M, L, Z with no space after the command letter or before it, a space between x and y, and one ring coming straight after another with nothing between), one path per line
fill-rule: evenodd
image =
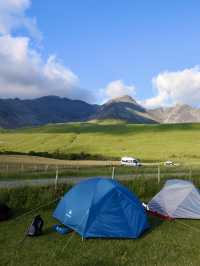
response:
M97 110L79 100L46 96L33 100L1 99L0 127L17 128L47 123L85 121Z

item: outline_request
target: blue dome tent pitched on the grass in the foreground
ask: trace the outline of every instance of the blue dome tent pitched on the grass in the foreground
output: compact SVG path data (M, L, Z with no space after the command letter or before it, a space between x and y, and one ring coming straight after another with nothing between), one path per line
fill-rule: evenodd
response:
M138 198L119 182L104 178L75 185L53 217L84 238L137 238L149 227Z

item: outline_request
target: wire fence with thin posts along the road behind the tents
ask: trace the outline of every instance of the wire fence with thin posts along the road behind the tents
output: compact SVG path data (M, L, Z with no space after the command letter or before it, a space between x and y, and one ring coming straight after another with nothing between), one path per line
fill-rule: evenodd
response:
M121 166L110 161L103 165L87 164L31 164L31 163L1 163L0 180L38 179L60 177L90 177L107 176L113 178L156 178L159 183L163 178L194 179L200 177L200 165L148 164L141 167Z

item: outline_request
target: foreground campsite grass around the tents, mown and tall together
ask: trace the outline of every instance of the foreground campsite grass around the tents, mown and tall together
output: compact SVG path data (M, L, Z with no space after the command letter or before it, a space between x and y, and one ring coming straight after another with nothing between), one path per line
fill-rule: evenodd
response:
M137 179L124 183L141 200L148 201L163 185L156 181ZM195 183L200 185L200 179ZM66 188L60 187L62 195ZM50 202L57 197L51 187L2 190L4 199L17 215ZM21 209L23 208L23 209ZM45 220L44 234L27 238L24 232L36 213L0 224L1 265L199 265L200 221L161 221L150 218L151 229L137 240L81 240L75 233L61 236L52 232L54 206L40 209ZM184 224L183 224L184 223Z

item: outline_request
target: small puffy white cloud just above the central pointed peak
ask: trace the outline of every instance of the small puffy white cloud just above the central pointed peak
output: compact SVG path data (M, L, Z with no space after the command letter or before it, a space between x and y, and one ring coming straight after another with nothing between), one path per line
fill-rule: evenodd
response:
M114 80L110 82L105 88L105 98L117 98L124 95L134 96L135 95L134 85L125 85L122 80Z

